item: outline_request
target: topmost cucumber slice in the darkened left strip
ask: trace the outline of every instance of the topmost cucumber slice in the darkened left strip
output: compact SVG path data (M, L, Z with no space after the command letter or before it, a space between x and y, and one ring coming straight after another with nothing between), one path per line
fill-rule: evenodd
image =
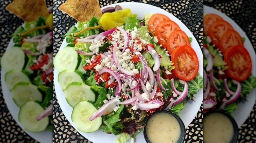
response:
M20 47L12 47L1 58L1 67L6 71L22 70L25 66L25 53Z

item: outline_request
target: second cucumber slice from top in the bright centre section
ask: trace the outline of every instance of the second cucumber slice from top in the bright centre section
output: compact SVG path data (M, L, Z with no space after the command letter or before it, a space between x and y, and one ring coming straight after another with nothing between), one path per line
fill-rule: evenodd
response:
M58 83L62 90L64 90L72 82L83 83L83 73L77 70L61 71L58 75Z

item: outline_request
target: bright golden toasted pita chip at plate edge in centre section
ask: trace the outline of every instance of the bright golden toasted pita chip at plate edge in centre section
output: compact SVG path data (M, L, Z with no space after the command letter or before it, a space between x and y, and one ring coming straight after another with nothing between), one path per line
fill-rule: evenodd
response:
M92 16L102 15L98 0L67 0L59 9L79 22L86 22Z

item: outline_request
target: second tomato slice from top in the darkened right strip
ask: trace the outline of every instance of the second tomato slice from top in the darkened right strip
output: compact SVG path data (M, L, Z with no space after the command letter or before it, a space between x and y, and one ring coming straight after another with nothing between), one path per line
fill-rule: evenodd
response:
M216 47L220 47L219 42L221 37L227 30L233 30L233 27L224 20L218 20L209 26L207 35L210 37L212 43L215 44Z

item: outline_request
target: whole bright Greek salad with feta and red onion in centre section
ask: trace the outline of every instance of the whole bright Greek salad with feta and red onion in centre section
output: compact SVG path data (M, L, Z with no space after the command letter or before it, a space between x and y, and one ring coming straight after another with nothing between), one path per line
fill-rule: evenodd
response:
M72 26L53 65L76 128L89 133L102 125L125 142L153 112L179 115L203 77L192 39L178 24L160 13L138 20L129 8L111 10Z

